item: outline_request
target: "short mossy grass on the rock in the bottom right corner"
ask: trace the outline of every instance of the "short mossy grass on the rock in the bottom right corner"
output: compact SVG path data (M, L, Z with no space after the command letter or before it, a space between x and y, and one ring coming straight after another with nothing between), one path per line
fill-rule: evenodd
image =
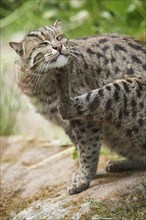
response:
M137 194L135 198L137 199L136 201L133 201L132 198L129 198L128 200L127 198L122 197L117 202L104 201L104 203L92 200L90 202L90 214L95 213L94 218L97 220L145 219L146 198L141 193Z

